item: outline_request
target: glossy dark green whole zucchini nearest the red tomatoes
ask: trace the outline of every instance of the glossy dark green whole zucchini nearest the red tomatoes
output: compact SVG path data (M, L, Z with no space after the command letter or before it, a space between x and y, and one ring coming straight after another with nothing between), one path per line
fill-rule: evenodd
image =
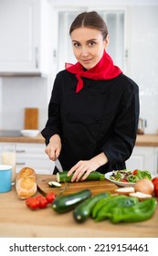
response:
M57 197L51 207L58 213L68 212L89 197L91 197L90 189L83 189L68 196Z

